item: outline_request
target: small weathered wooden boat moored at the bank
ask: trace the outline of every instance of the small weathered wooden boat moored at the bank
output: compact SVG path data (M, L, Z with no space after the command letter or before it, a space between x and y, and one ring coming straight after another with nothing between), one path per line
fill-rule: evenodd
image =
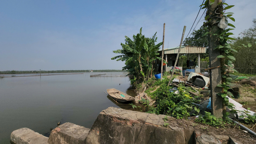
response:
M112 97L112 99L118 101L118 102L128 102L131 100L134 100L134 97L125 94L117 89L111 88L107 89L108 95Z

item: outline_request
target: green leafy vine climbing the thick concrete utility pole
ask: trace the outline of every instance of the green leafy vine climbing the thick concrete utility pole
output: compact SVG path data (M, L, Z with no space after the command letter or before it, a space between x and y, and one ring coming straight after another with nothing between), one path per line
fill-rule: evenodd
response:
M209 5L212 5L215 2L215 0L206 0L206 2L201 5L203 6L202 9L208 8ZM225 18L225 21L227 21L227 19L229 18L232 21L235 21L235 19L232 17L232 15L234 14L233 12L227 12L224 13L223 10L227 10L232 8L234 5L228 5L227 3L225 3L225 0L223 0L222 2L218 3L218 6L214 9L215 13L207 15L205 17L205 20L207 21L206 23L206 29L208 29L209 24L212 24L212 19L213 18L219 18L219 20L221 20L222 17ZM219 21L218 21L219 23ZM216 25L216 23L214 27L218 27ZM227 24L230 27L235 28L235 26L231 23ZM207 34L212 34L214 36L218 37L219 40L219 45L215 48L217 50L219 50L220 55L217 56L217 58L220 58L221 61L221 84L217 85L218 87L222 88L222 92L218 93L218 96L222 97L222 104L223 104L223 108L226 108L226 106L231 109L231 113L237 113L237 111L234 109L234 105L232 103L229 103L229 99L227 98L227 96L232 96L232 93L228 91L228 89L230 89L230 82L231 82L231 77L230 74L232 73L228 73L226 72L227 66L229 67L233 67L233 62L236 60L235 57L233 56L233 52L237 52L235 49L232 49L231 44L230 44L230 40L235 40L234 38L230 37L230 35L233 35L232 32L230 32L230 30L233 30L232 28L228 28L228 29L221 29L218 27L218 30L215 33L212 32L206 32L203 34L207 35ZM235 69L231 68L231 70L236 71ZM237 72L237 71L236 71ZM225 110L225 109L224 109ZM230 112L224 112L223 111L223 117L226 118Z

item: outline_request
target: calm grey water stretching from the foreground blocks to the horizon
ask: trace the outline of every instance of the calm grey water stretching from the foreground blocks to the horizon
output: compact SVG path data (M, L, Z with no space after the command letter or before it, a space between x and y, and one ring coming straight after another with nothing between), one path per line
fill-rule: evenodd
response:
M91 128L99 112L110 106L132 110L104 93L116 88L135 96L129 78L120 76L124 73L91 74L102 73L0 78L0 144L9 143L11 132L22 127L47 136L59 121Z

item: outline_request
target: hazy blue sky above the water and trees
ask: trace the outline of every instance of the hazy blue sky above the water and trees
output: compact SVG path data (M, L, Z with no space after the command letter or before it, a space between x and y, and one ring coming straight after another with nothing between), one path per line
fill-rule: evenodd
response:
M157 32L159 43L166 23L164 49L176 47L184 26L187 36L202 2L0 0L0 71L121 70L124 62L111 58L118 55L113 50L122 49L125 36L132 38L142 27L146 37ZM226 12L235 13L236 21L229 21L236 26L232 32L237 37L252 26L256 0L226 3L235 5Z

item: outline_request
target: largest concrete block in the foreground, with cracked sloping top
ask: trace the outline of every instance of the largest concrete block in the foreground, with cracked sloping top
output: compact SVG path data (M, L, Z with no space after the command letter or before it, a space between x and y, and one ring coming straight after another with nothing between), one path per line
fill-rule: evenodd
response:
M165 115L110 107L102 111L89 131L86 144L184 144L183 127L167 128ZM187 138L187 140L185 139Z

